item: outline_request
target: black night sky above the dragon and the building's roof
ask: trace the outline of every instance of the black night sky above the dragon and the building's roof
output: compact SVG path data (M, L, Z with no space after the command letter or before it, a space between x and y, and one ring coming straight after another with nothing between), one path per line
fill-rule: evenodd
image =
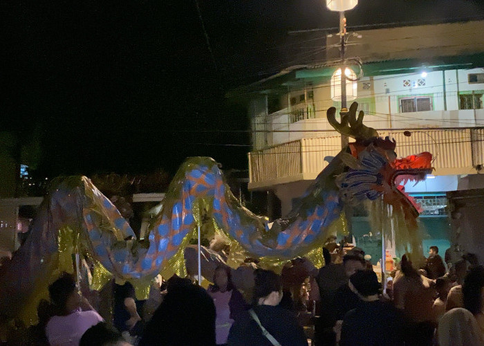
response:
M187 156L247 167L248 118L225 93L319 57L324 31L289 32L336 27L338 15L322 0L198 6L203 25L189 0L2 1L0 131L37 141L46 176L174 172ZM484 19L484 1L360 0L346 17Z

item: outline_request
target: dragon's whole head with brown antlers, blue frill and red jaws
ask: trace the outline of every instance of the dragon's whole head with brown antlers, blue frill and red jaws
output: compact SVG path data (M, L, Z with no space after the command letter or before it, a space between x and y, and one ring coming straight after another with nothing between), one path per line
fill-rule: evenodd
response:
M422 181L433 170L429 152L397 158L395 140L378 137L378 132L363 125L364 113L356 118L358 104L353 102L348 113L342 113L342 122L335 120L335 108L328 109L328 121L337 131L355 138L342 160L348 166L337 177L336 183L346 201L357 203L382 197L393 207L400 207L406 217L415 219L420 206L404 191L408 181Z

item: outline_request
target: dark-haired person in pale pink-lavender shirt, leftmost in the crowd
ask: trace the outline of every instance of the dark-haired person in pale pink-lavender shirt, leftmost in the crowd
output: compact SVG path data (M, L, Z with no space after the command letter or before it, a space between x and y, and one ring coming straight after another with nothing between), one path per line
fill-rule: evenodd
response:
M79 346L82 334L104 321L86 299L77 292L73 275L64 273L48 288L55 308L46 325L50 346Z

